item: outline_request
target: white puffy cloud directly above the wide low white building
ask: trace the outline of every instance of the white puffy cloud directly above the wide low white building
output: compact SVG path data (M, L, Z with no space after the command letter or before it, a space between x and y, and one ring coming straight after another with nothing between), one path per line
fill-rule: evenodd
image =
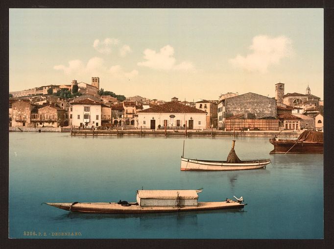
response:
M194 67L191 62L183 61L175 64L174 49L167 45L160 49L160 52L146 49L143 52L146 61L138 62L138 66L149 67L158 70L192 70Z

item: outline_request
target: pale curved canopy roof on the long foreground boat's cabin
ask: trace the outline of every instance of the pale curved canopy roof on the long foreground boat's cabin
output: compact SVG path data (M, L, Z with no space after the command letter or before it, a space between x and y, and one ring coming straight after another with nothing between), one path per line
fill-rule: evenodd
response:
M198 199L196 190L138 190L140 199Z

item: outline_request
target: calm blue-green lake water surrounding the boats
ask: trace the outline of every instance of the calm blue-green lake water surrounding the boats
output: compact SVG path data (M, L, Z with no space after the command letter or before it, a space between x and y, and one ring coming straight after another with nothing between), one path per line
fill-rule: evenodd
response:
M250 171L181 172L183 140L10 133L9 237L323 238L323 155L269 155L273 146L268 138L236 138L240 159L269 157L272 164ZM231 144L231 137L188 138L185 157L225 160ZM42 205L135 201L142 187L204 188L199 201L235 195L248 205L241 210L136 215L70 213Z

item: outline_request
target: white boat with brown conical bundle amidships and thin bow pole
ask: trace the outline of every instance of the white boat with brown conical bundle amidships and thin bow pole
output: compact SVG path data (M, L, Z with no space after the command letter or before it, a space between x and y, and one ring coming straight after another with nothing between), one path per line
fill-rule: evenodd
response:
M181 171L224 171L224 170L253 170L264 168L270 159L240 160L234 150L236 140L232 142L232 149L226 161L190 159L181 156ZM184 143L183 143L184 151Z

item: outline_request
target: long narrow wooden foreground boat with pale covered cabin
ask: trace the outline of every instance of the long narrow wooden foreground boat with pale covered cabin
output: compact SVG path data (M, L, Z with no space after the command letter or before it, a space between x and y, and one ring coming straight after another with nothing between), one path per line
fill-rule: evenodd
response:
M168 213L185 211L216 210L225 208L243 208L243 198L225 201L198 202L198 193L202 190L137 190L137 202L72 202L50 203L60 209L83 213Z

